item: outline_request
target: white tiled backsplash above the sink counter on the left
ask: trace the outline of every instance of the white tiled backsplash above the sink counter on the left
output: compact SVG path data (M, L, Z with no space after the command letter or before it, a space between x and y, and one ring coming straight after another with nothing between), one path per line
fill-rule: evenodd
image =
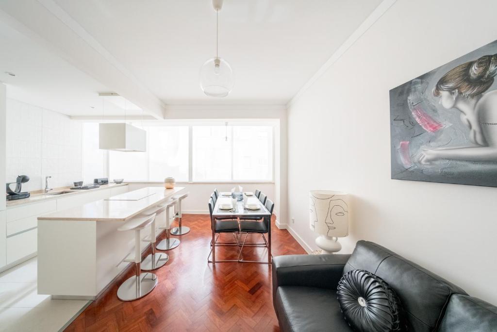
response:
M82 179L82 123L38 106L7 99L7 182L28 175L22 191L72 185Z

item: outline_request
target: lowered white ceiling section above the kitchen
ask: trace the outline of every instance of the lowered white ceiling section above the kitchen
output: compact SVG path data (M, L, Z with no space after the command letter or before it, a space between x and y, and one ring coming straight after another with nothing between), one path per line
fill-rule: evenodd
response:
M102 114L103 106L105 116L123 114L122 108L108 102L112 97L98 96L107 91L104 85L1 21L0 45L0 82L7 84L9 98L68 115Z

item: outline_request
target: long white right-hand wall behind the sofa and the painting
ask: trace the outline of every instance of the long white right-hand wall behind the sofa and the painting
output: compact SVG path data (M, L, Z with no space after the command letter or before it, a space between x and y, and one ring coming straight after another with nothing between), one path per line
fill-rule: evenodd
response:
M398 0L289 105L289 227L316 248L311 189L353 195L350 235L497 304L497 188L390 178L389 90L497 39L493 0ZM295 223L291 219L295 218Z

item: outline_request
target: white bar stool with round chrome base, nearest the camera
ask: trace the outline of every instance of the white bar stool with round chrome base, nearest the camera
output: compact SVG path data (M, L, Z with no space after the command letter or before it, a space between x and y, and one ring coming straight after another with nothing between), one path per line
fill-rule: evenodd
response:
M117 229L118 231L135 232L135 256L125 258L123 261L135 263L136 273L134 276L126 279L117 289L117 298L121 301L138 300L152 292L155 286L157 286L158 280L154 273L140 273L140 263L142 261L140 231L152 224L155 216L153 214L147 217L134 218Z

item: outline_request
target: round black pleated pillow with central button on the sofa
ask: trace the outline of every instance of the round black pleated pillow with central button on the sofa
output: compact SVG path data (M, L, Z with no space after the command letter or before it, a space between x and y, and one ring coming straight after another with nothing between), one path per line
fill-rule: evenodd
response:
M406 331L403 310L395 291L377 275L352 270L336 290L345 320L354 331Z

